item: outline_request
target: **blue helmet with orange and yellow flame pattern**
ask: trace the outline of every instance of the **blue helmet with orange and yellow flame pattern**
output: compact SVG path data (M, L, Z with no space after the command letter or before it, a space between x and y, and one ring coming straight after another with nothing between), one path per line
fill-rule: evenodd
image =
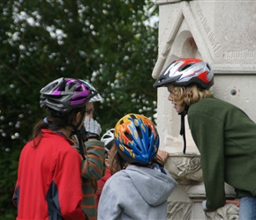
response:
M115 142L120 156L131 164L147 165L159 148L154 123L140 114L127 114L117 122Z

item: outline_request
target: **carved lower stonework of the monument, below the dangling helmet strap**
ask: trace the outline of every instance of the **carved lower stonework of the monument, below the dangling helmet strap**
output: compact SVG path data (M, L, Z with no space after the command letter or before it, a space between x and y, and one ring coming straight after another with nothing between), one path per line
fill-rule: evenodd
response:
M201 202L206 200L206 196L200 155L169 154L165 166L178 182L175 192L169 196L168 219L238 219L238 208L232 204L215 212L205 214L203 211ZM233 187L225 185L225 192L227 199L234 198Z

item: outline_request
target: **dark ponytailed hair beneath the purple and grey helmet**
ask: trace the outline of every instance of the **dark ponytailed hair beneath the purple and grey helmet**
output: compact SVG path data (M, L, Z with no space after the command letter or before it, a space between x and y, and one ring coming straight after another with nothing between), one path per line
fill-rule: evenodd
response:
M75 120L76 115L78 113L81 113L83 116L85 114L86 107L83 106L83 107L74 108L72 109L71 112L67 114L60 114L59 112L56 112L55 110L50 108L46 108L46 110L47 110L47 113L49 114L49 116L45 118L47 119L47 121L40 120L34 125L33 135L31 138L32 140L34 140L34 147L36 147L41 141L42 128L49 129L52 131L57 131L60 128L67 128L68 126L71 126L72 128L74 128L72 121Z

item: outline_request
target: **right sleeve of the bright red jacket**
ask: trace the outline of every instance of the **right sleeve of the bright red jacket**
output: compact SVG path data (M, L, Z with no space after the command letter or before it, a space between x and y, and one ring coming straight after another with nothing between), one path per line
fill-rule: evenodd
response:
M64 219L87 219L81 209L83 194L80 167L80 156L72 147L56 160L53 180L58 190L59 209Z

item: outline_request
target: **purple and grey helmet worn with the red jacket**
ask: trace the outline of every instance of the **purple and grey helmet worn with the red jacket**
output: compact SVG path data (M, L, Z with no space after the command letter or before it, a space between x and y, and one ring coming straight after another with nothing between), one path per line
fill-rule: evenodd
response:
M86 106L89 99L97 92L83 81L74 78L61 77L47 84L40 91L40 106L48 106L62 114L73 108Z

